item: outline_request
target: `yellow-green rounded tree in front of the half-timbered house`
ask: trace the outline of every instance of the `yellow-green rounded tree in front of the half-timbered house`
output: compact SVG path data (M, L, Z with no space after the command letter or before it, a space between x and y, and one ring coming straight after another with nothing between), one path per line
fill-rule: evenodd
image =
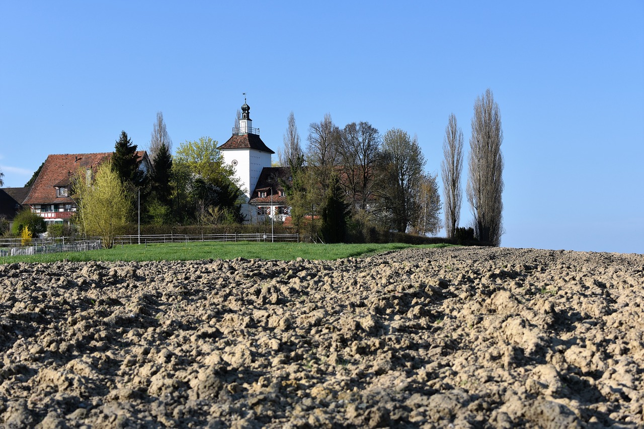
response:
M103 247L113 245L114 237L127 223L130 202L126 188L113 169L111 161L99 165L91 183L78 174L74 192L79 201L79 223L86 235L101 237Z

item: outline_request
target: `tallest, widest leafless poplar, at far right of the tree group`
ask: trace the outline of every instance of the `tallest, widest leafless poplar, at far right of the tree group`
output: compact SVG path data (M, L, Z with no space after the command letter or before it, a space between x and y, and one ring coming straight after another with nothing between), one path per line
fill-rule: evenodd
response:
M501 114L488 88L474 102L472 136L469 139L467 196L474 215L475 234L494 246L503 233L503 156Z

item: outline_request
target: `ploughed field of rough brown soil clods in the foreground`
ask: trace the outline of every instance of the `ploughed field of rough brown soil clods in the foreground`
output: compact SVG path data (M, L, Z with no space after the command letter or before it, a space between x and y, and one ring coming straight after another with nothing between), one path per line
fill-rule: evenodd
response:
M642 427L644 256L0 266L0 426Z

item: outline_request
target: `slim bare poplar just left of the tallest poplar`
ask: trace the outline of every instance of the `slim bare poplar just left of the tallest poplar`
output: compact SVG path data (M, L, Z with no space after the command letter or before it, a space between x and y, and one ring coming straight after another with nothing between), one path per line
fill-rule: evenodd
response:
M463 169L463 131L456 122L456 116L450 114L443 138L444 160L440 163L445 201L445 230L447 236L454 237L459 226L460 204L463 199L460 187L460 173Z

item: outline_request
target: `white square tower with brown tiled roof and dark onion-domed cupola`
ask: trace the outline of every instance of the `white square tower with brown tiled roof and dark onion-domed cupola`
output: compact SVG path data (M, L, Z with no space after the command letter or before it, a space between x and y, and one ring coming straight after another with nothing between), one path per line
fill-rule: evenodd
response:
M260 129L252 127L251 107L242 105L242 118L239 126L232 129L232 136L219 147L225 163L232 165L235 176L240 179L240 185L245 193L245 204L242 205L242 214L250 221L255 216L251 214L251 192L255 189L260 178L261 170L270 167L270 156L275 152L261 141ZM254 209L253 209L254 210Z

